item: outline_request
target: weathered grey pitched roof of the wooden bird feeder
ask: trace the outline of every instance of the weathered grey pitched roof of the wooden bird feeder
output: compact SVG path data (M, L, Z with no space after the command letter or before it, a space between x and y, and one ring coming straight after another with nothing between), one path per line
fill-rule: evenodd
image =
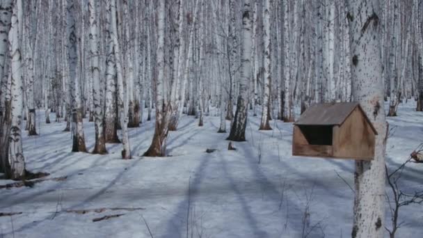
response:
M357 106L372 127L374 133L377 134L376 129L374 129L358 102L312 104L294 125L342 125Z

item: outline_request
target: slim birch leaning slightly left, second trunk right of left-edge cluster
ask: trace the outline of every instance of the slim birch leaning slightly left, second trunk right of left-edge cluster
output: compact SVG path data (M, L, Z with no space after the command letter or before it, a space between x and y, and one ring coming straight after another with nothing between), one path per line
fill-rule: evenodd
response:
M67 0L67 58L69 58L70 97L72 106L72 152L87 152L83 135L81 87L77 75L77 29L74 0Z

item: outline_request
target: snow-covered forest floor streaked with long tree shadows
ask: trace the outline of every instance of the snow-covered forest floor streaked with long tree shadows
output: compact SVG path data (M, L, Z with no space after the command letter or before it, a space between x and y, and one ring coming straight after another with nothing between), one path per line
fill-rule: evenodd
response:
M423 142L423 113L414 109L401 104L388 118L390 170ZM39 111L40 136L24 136L27 169L50 175L0 189L0 237L350 237L354 162L293 157L292 123L272 120L273 130L263 132L250 116L248 141L229 151L212 109L204 127L183 116L168 138L170 157L147 158L154 122L143 122L129 129L133 159L122 160L120 144L108 144L107 155L70 152L65 122L50 119L46 125ZM85 120L84 130L93 150L93 122ZM423 190L422 175L423 164L408 164L401 188ZM401 209L397 237L422 237L423 206Z

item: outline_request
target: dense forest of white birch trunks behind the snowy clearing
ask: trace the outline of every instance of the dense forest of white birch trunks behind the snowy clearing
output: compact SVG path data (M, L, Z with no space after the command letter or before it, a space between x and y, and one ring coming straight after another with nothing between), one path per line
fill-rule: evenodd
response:
M166 157L182 114L198 127L220 117L216 133L246 141L248 117L272 130L310 104L359 101L384 135L401 102L423 111L422 16L421 0L1 0L0 172L29 173L22 134L40 134L37 113L66 122L72 152L120 143L122 159L134 152L129 128L150 120L141 154ZM367 166L384 173L384 140L379 159L357 162L358 184L378 176ZM360 220L374 216L360 207L369 199L356 193L357 237L378 237Z

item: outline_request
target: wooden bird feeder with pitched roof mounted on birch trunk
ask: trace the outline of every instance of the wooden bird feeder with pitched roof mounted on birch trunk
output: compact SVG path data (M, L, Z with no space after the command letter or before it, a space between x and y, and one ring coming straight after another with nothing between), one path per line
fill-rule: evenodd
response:
M358 102L313 104L294 123L292 154L372 160L376 135Z

